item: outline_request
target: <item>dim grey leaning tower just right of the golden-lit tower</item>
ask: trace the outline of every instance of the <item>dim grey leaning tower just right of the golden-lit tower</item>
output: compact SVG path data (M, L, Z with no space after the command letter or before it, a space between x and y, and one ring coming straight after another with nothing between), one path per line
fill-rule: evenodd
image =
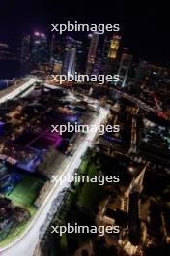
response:
M121 62L118 70L118 75L120 80L116 82L116 85L119 85L120 87L126 86L131 60L132 60L131 55L126 53L122 54L122 58L121 58Z

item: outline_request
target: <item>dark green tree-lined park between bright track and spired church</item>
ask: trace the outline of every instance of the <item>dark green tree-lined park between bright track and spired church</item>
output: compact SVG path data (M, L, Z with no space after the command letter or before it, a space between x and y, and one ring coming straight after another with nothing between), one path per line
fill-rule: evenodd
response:
M102 167L99 161L99 154L89 150L77 173L81 176L101 175ZM62 207L56 213L51 225L65 225L66 223L78 223L80 226L95 225L99 203L104 196L104 185L101 186L99 183L94 182L73 182L70 192ZM42 250L48 255L53 255L53 251L57 251L59 255L74 255L75 247L78 248L78 246L89 240L86 234L63 234L62 237L51 235L50 226L44 236L44 240L42 240Z

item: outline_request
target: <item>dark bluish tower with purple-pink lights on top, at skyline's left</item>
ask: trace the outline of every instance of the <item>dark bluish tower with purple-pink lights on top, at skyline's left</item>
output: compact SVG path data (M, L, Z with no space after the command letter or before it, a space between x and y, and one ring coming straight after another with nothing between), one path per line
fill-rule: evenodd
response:
M32 37L31 59L34 64L48 61L47 38L43 33L35 32Z

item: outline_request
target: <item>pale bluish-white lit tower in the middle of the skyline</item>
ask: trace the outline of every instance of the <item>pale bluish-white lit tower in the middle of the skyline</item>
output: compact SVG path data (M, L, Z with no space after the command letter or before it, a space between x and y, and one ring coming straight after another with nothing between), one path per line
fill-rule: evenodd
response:
M63 74L65 75L74 75L75 73L75 64L76 64L76 48L68 48L63 64Z

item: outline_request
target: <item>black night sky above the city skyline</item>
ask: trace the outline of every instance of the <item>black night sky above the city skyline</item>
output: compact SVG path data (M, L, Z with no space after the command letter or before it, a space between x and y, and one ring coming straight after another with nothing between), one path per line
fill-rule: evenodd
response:
M68 20L79 23L120 23L122 46L134 58L169 66L169 7L163 1L62 1L1 0L0 42L19 44L21 37L35 30L51 29L51 23ZM55 4L54 4L55 3ZM160 4L161 3L161 4ZM77 32L77 38L83 39Z

